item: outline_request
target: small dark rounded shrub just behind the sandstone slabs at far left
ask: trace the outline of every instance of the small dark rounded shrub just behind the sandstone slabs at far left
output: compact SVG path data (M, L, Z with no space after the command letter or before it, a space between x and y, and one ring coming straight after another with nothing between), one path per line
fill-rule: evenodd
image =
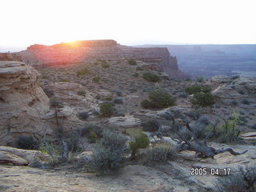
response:
M32 136L20 136L16 141L16 145L19 149L36 150L39 142L35 141Z

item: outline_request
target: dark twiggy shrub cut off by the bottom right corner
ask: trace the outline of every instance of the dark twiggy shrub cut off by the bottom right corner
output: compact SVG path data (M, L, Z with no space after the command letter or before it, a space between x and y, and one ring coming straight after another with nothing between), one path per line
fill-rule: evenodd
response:
M239 167L238 173L219 178L215 183L217 192L254 192L256 182L256 166Z

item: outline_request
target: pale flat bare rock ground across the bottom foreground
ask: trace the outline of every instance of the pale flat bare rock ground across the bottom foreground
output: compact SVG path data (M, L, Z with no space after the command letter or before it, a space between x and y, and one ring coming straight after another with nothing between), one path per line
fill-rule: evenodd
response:
M210 143L210 146L226 148L224 144ZM184 151L175 161L164 164L143 166L126 165L119 174L98 175L86 173L84 168L75 168L78 162L63 165L55 169L38 169L28 166L0 166L1 191L214 191L220 176L193 176L192 167L230 168L230 174L238 171L238 166L255 166L256 146L233 145L232 148L246 154L234 156L228 152L218 154L214 159L201 159L194 153ZM0 147L0 162L3 152L18 156L17 150ZM14 153L14 154L12 154ZM23 150L19 154L20 162L33 162L32 151ZM25 155L26 154L26 155ZM22 156L22 158L21 158ZM42 158L46 161L46 157ZM26 159L27 158L27 159ZM22 160L23 159L23 160ZM30 160L30 161L28 161ZM81 156L80 156L81 161ZM17 162L16 162L17 163ZM9 162L9 165L14 162ZM32 165L32 164L31 164ZM223 177L223 176L222 176ZM228 176L226 176L228 177Z

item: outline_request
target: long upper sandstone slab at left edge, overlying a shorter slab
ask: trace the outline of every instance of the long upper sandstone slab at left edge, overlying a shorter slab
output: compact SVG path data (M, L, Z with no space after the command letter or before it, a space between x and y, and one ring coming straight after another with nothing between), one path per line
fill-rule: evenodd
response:
M26 159L28 163L33 162L50 162L52 159L49 154L43 154L38 150L22 150L10 146L0 146L0 152L7 152Z

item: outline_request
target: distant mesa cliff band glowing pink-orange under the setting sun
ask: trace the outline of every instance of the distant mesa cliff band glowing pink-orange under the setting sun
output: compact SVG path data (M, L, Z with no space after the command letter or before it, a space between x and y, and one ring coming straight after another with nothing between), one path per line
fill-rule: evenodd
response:
M33 45L27 50L15 53L18 61L28 65L53 66L74 65L88 59L118 60L135 58L151 64L151 70L161 70L170 78L187 78L178 70L175 57L170 56L166 48L135 48L120 46L114 40L91 40L59 43L53 46Z

